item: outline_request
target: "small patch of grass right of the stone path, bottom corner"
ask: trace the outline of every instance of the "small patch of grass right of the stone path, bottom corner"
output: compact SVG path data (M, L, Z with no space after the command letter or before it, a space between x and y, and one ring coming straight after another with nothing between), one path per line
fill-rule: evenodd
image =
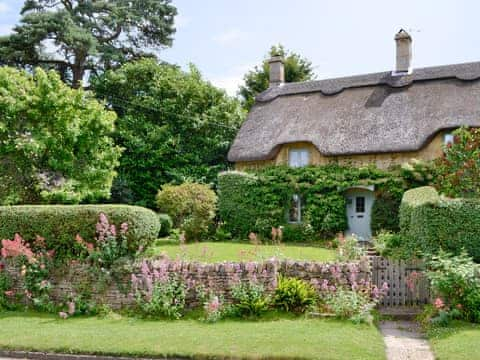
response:
M480 325L454 322L428 331L435 358L439 360L480 359Z

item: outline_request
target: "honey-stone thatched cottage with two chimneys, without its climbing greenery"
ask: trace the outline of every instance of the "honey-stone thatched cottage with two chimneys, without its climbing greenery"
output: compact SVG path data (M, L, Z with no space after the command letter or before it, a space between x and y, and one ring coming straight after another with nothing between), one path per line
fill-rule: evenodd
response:
M441 156L453 129L480 126L480 62L412 69L411 36L400 30L395 42L393 71L336 79L285 83L282 58L273 57L270 87L257 96L229 160L238 170L330 162L388 168ZM370 190L349 199L349 219L359 210L369 222Z

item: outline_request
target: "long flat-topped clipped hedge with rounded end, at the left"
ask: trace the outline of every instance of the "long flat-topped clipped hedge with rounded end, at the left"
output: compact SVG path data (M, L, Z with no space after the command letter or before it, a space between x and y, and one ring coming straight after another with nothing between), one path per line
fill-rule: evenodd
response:
M129 247L135 252L148 246L160 231L158 215L152 210L128 205L23 205L0 206L0 238L11 239L15 233L32 242L37 235L45 238L47 248L59 258L71 258L72 243L79 234L86 241L95 238L99 214L111 224L128 224Z

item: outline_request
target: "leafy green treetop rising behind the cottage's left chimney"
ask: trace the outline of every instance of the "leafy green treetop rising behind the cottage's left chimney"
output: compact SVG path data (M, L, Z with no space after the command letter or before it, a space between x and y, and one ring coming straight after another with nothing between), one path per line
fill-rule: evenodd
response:
M280 55L285 61L285 81L308 81L315 78L312 63L300 55L285 50L282 45L272 46L270 52L260 66L249 71L244 76L245 85L240 87L239 94L243 98L243 106L250 110L255 102L255 96L268 89L270 65L272 56Z

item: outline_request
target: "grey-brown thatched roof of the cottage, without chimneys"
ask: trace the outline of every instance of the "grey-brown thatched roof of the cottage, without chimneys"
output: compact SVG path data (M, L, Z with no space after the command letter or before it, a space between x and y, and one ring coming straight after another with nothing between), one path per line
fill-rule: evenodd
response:
M232 162L311 142L326 156L421 149L440 130L480 126L480 62L286 83L259 94Z

